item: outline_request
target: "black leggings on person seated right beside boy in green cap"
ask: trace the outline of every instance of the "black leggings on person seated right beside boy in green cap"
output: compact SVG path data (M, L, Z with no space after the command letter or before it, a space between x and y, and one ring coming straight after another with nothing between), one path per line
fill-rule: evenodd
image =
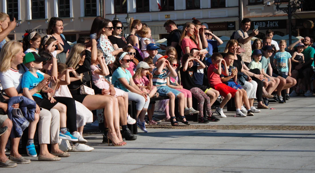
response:
M67 107L67 128L69 132L77 131L77 109L76 102L70 97L54 97L59 103L66 105Z

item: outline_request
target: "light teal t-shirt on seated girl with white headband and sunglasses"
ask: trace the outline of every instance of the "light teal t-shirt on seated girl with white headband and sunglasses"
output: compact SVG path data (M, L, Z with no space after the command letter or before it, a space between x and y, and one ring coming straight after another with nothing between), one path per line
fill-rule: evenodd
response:
M129 83L130 78L132 78L131 73L129 70L125 69L126 72L123 71L121 67L118 67L112 75L112 84L115 88L121 89L126 92L130 92L122 83L118 80L119 78L125 78Z

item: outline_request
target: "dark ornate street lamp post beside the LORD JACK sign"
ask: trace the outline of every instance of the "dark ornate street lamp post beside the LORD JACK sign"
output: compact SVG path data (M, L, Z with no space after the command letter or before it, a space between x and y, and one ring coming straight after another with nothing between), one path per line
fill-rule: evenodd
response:
M282 4L281 0L274 0L273 4L276 5L277 11L282 10L284 13L288 14L289 19L289 44L292 44L292 13L295 13L296 10L302 8L304 0L289 0L288 7L280 8L279 6Z

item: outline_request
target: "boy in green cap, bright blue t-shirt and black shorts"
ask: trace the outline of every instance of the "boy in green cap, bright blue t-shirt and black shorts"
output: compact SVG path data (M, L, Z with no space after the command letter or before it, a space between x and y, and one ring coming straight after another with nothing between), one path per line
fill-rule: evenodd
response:
M36 102L36 113L39 114L41 108L50 110L50 109L57 109L60 111L60 132L59 132L59 138L60 139L66 139L70 141L78 141L77 138L73 137L70 132L67 131L66 127L66 112L67 107L64 104L61 104L54 100L54 98L50 95L50 93L47 93L48 99L43 98L43 96L38 92L33 95L31 95L32 88L36 87L37 84L39 84L43 79L44 76L37 71L39 69L43 68L43 61L46 59L43 57L40 57L36 52L29 52L25 55L23 58L23 64L29 69L26 73L24 73L22 81L21 81L21 88L24 95Z

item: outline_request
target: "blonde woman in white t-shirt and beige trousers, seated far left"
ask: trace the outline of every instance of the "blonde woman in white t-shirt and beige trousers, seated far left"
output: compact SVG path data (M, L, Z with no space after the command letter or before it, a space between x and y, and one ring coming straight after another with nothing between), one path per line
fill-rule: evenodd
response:
M7 42L0 53L0 81L4 92L9 97L22 96L21 93L21 79L26 72L26 68L22 65L23 57L22 45L19 41L12 40ZM43 92L52 92L52 89L46 88L47 79L43 79L42 82L37 84L36 87L30 90L33 95L40 90ZM30 124L30 128L32 127ZM59 126L60 126L60 114L56 109L51 109L50 112L46 109L42 109L39 114L38 122L38 140L40 144L40 153L38 160L43 161L55 161L60 160L55 155L64 154L58 147L59 142ZM35 124L36 127L36 124ZM14 127L13 127L14 128ZM9 159L20 164L30 163L31 160L23 158L19 152L19 137L11 136L12 148ZM51 154L47 149L47 144L51 143ZM70 155L70 154L69 154ZM68 156L69 156L68 155Z

